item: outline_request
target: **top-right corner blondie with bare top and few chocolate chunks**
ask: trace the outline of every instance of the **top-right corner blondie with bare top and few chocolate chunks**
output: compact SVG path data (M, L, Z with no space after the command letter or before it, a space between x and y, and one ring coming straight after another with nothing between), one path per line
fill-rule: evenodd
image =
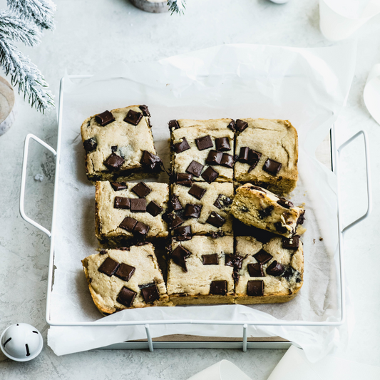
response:
M291 192L298 180L297 130L288 120L236 120L235 180L275 193Z

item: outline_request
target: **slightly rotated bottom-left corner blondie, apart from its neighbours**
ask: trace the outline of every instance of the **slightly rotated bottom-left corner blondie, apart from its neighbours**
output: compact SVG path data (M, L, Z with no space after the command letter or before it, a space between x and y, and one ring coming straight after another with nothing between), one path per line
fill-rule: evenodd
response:
M102 250L82 260L93 302L102 314L132 307L167 306L153 245Z

